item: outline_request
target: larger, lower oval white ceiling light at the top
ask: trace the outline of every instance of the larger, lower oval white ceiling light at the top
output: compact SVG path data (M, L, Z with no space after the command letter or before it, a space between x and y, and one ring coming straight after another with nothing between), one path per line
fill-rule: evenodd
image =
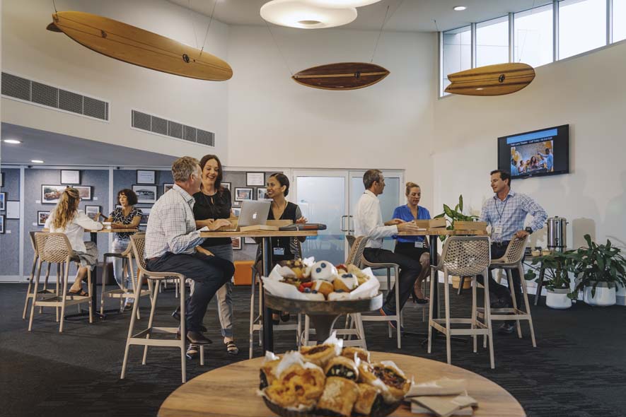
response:
M357 9L324 8L308 0L272 0L261 6L261 17L274 25L323 29L347 25L357 18Z

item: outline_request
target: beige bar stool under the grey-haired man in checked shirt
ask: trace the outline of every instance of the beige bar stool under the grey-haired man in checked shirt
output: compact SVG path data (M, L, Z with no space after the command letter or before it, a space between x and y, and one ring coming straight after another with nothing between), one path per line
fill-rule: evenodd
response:
M185 276L177 274L175 272L151 272L146 270L146 260L144 259L144 246L146 236L144 233L137 233L130 237L130 245L134 258L137 259L137 269L139 274L137 277L137 285L135 286L135 300L139 300L141 297L141 287L143 286L143 278L148 278L148 281L154 280L158 283L166 278L175 278L180 281L180 334L178 327L153 327L154 310L156 310L156 299L158 297L158 288L152 286L152 305L150 308L150 318L148 319L148 327L137 334L133 334L135 320L137 319L137 310L139 310L139 303L136 301L132 305L132 315L130 317L130 325L128 327L128 336L126 339L126 348L124 349L124 361L122 362L122 375L120 379L123 380L126 375L126 365L128 362L128 352L131 345L144 346L144 357L141 360L141 365L146 365L146 358L148 356L148 346L167 346L180 348L180 369L182 373L182 383L187 381L187 361L185 357L185 337L187 332L185 331ZM173 334L176 339L151 339L153 334ZM200 365L204 365L204 346L200 345Z

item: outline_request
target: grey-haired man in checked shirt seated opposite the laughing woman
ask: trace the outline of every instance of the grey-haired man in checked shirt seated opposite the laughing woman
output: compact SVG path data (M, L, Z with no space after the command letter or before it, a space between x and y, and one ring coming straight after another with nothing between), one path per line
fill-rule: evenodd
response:
M202 172L198 161L189 156L172 165L174 187L152 207L146 228L146 269L155 272L178 272L194 281L194 290L185 307L187 340L195 344L211 343L202 334L202 319L209 301L235 273L232 262L196 251L204 241L200 232L230 225L219 218L196 230L193 194L200 191Z

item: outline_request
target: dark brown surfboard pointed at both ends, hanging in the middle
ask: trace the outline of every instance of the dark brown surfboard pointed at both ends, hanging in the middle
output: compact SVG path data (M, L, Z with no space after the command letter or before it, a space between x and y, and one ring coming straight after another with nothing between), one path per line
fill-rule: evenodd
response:
M338 62L298 71L291 78L303 86L323 90L356 90L378 83L389 71L376 64Z

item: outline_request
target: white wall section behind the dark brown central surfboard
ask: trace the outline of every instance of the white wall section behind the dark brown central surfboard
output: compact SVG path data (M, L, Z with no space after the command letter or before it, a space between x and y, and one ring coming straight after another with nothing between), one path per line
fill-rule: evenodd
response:
M280 52L267 28L231 26L228 165L405 169L407 180L424 184L429 206L436 35L383 33L373 63L390 75L332 91L299 85L289 69L369 62L377 32L272 26L272 33Z

